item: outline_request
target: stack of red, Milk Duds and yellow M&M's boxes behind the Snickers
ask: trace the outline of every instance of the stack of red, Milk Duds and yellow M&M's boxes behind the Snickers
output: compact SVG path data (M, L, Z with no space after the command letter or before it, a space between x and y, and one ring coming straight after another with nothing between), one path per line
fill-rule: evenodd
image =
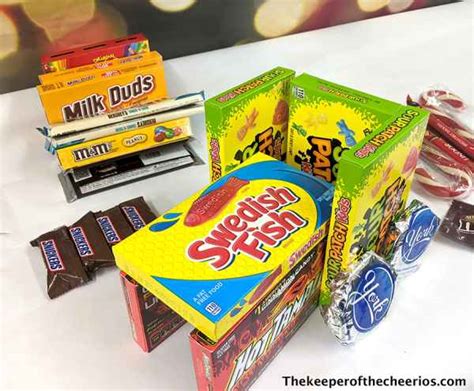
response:
M112 159L191 136L187 116L163 123L144 118L173 107L156 103L168 96L163 60L142 34L53 53L41 61L45 73L37 90L49 123L41 130L61 170L75 180L99 163L104 167ZM121 118L133 121L118 123Z

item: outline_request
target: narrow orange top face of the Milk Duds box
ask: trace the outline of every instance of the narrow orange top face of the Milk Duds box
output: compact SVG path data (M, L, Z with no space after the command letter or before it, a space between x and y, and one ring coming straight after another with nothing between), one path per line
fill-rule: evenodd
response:
M129 57L113 58L107 61L83 65L81 67L66 69L64 71L44 73L38 75L38 78L41 84L62 82L65 87L68 87L87 80L89 74L100 74L105 70L120 70L145 61L153 61L156 64L160 64L163 62L163 57L161 57L161 54L157 51L145 52Z

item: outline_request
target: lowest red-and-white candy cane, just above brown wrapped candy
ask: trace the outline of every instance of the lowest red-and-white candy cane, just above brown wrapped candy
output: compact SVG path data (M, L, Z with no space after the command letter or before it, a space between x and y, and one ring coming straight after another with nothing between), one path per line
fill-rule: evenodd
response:
M441 183L428 169L417 167L415 179L427 192L440 198L457 198L471 191L471 175L462 165L432 152L423 151L421 156L423 161L434 165L451 181L451 185Z

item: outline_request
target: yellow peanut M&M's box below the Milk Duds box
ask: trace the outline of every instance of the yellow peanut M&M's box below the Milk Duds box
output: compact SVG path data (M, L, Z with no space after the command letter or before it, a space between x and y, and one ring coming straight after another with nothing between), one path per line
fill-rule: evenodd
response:
M123 132L56 150L59 165L63 171L67 171L160 145L187 140L192 135L188 117L160 124L147 118L141 122L142 126L135 130L126 131L125 128Z

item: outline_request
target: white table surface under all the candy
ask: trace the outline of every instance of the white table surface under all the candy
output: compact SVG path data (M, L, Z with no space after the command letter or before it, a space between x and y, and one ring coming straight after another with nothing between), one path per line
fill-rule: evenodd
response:
M204 89L213 96L282 65L399 102L434 83L473 102L472 33L468 1L170 60L166 75L173 95ZM138 195L163 212L206 184L207 166L67 204L55 159L34 130L44 123L35 90L0 96L0 384L5 389L195 388L190 325L143 353L132 340L117 270L49 300L40 253L28 242L89 210ZM193 123L204 154L203 116ZM425 200L444 216L449 202ZM438 238L424 261L399 287L390 317L372 335L342 347L317 311L254 388L281 389L283 375L464 377L472 387L473 253Z

